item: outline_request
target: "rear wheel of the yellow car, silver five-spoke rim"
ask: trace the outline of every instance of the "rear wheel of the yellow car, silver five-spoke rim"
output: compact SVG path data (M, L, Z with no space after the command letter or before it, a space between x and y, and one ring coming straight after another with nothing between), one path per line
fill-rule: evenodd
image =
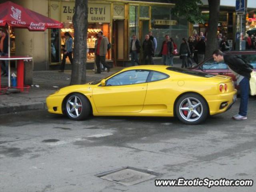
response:
M195 125L203 122L209 113L204 98L198 94L185 94L176 102L176 115L184 124Z

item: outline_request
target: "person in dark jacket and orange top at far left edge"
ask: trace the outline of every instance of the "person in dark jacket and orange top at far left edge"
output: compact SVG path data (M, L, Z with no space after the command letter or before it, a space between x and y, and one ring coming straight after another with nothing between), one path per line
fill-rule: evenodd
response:
M8 56L8 35L3 29L0 29L0 56ZM2 60L1 69L1 76L8 76L9 68L7 60Z

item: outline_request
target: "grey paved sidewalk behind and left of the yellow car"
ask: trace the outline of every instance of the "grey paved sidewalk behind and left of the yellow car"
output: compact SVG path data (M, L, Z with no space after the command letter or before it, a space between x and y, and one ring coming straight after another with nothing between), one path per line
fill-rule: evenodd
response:
M174 66L180 67L180 64ZM121 67L112 68L111 71L94 74L94 71L86 71L86 82L99 80L109 76ZM33 82L28 93L12 93L0 95L0 114L20 112L27 110L46 109L46 97L58 90L59 88L69 86L71 70L59 73L57 70L52 71L34 71ZM8 78L2 77L2 85L8 85Z

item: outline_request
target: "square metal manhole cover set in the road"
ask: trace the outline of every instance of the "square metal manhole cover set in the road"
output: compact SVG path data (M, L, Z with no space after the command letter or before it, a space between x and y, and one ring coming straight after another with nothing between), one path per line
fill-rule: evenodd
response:
M140 170L137 168L125 167L105 172L102 174L98 174L96 176L122 185L130 186L155 178L158 175L158 173L151 172L148 170Z

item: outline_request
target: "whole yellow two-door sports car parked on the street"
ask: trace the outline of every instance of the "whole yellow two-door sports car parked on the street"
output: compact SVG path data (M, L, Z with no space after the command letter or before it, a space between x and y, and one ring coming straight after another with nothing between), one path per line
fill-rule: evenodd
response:
M147 65L125 68L102 80L62 88L46 99L48 112L72 120L94 116L177 116L198 124L236 101L230 77Z

